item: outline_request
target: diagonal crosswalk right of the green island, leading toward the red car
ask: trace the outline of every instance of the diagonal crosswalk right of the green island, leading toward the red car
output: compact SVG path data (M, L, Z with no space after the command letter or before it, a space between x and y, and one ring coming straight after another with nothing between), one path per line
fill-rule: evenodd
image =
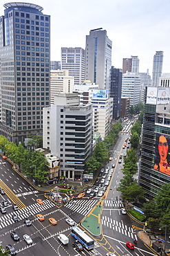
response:
M127 237L129 237L131 239L137 239L134 229L125 225L123 223L123 221L120 222L120 221L116 221L115 219L112 219L110 217L102 216L101 223L104 226L107 226L107 228L111 228L112 230L120 232L123 235L126 235Z

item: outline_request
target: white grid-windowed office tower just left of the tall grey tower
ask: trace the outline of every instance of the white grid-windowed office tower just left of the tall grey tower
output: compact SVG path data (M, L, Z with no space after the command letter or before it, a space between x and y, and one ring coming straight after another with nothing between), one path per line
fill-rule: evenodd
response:
M67 69L74 76L74 84L85 80L85 50L80 47L61 48L61 69Z

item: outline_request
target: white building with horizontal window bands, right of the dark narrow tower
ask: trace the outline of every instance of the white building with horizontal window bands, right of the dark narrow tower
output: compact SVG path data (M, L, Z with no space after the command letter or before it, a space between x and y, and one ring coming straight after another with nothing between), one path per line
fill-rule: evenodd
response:
M130 98L130 107L140 103L140 75L123 74L122 97Z

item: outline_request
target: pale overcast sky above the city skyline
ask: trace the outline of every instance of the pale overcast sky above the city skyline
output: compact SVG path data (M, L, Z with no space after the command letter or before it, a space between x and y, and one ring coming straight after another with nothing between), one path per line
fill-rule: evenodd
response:
M12 2L10 0L9 2ZM20 0L17 0L20 2ZM22 1L21 1L22 2ZM139 71L152 73L153 55L164 51L163 73L170 73L169 0L34 0L51 16L51 60L61 60L61 47L85 48L89 30L103 28L112 41L112 66L137 55ZM3 15L1 1L0 15Z

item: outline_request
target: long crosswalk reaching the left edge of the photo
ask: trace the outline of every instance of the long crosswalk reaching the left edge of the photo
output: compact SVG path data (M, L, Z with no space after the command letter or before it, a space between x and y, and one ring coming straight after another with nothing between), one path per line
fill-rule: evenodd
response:
M42 205L40 205L39 203L33 203L32 205L29 205L26 208L17 210L15 212L10 212L8 214L3 214L3 216L0 217L0 228L4 228L14 223L12 219L13 213L16 214L19 217L19 221L21 221L22 219L30 217L30 215L38 214L54 206L55 204L52 201L49 201L48 199L46 199L46 200L43 200ZM8 208L7 208L7 211L8 211Z

